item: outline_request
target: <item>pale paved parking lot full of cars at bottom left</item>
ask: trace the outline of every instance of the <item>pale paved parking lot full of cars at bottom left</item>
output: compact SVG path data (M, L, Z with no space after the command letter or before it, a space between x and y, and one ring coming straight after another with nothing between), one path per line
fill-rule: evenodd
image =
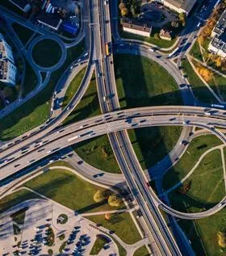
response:
M14 234L10 215L28 208L21 232ZM59 216L67 216L61 224ZM97 235L94 223L73 211L45 199L31 199L16 205L0 217L0 255L89 255ZM104 249L103 249L104 250ZM115 243L109 241L100 255L116 255Z

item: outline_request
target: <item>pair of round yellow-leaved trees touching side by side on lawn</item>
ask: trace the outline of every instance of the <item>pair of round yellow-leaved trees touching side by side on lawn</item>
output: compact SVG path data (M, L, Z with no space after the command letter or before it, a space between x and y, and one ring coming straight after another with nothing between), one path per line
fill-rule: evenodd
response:
M107 190L98 190L94 194L94 201L96 203L103 202L103 200L106 200L109 205L118 207L122 203L122 199L119 195L112 194L111 191Z

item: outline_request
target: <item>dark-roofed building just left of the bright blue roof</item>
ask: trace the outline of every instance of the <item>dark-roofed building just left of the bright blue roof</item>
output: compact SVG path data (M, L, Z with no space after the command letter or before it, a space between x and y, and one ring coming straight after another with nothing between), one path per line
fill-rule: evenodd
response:
M61 26L63 20L57 14L41 13L37 16L38 23L44 24L44 26L50 27L57 31Z

